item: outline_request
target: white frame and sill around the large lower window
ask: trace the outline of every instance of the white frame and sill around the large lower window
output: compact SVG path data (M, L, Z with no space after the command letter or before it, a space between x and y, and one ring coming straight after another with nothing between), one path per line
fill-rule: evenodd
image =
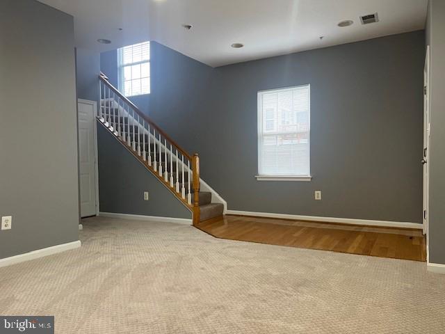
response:
M309 97L308 97L308 109L309 109L309 115L308 115L308 129L307 129L307 145L308 145L308 161L307 161L307 167L308 167L308 174L307 175L264 175L260 174L259 171L261 170L261 148L262 148L262 141L264 138L264 124L263 124L263 95L265 93L278 93L280 90L293 90L294 88L299 87L307 87L309 88ZM257 92L257 149L258 149L258 161L257 161L257 175L255 175L255 178L257 181L303 181L303 182L309 182L312 180L311 176L311 85L310 84L304 84L304 85L298 85L298 86L289 86L289 87L282 87L282 88L271 88L266 90L258 90ZM298 132L277 132L274 131L273 134L296 134Z

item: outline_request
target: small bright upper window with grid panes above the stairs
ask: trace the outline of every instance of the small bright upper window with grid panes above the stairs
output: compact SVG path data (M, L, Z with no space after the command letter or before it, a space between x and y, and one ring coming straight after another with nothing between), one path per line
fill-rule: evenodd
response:
M118 49L119 89L125 96L150 93L150 42Z

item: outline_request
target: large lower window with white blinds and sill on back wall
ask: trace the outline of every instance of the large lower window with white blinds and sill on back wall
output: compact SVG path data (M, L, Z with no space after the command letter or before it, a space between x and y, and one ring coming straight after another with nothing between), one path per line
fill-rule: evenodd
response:
M258 93L257 180L310 180L310 86Z

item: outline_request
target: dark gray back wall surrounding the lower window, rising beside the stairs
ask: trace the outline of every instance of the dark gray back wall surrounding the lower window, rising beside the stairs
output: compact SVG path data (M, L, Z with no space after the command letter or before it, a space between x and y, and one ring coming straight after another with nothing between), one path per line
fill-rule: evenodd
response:
M420 223L424 51L414 31L212 69L152 42L152 93L138 98L200 153L229 209ZM112 80L115 54L101 56ZM312 88L313 180L258 182L257 90L300 84Z

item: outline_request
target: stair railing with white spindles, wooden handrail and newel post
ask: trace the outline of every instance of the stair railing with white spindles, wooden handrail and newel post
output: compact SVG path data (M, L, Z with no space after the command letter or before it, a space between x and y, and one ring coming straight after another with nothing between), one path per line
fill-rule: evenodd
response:
M100 77L99 80L99 96L97 118L188 205L193 205L192 193L195 191L195 213L199 174L195 177L193 170L199 170L197 156L191 157L181 150L122 93L111 86L105 77Z

